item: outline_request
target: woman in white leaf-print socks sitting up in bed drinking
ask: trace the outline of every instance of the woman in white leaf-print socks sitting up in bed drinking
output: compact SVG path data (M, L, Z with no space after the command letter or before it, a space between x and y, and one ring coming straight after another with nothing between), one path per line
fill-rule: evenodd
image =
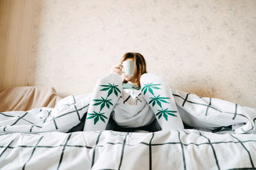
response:
M125 76L119 64L97 81L84 130L184 129L163 78L147 73L145 59L140 53L125 53L121 63L125 60L134 60L133 76Z

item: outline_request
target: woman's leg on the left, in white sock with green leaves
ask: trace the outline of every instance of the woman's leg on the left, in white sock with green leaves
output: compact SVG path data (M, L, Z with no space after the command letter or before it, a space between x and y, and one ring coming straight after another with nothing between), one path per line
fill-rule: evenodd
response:
M93 90L84 131L104 131L109 116L122 92L122 78L109 73L97 81Z

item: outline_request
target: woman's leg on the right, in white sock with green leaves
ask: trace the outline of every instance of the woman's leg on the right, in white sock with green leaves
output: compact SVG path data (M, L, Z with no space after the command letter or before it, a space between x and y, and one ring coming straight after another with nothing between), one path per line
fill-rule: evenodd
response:
M161 129L184 129L172 92L164 79L146 73L140 78L141 93L154 111Z

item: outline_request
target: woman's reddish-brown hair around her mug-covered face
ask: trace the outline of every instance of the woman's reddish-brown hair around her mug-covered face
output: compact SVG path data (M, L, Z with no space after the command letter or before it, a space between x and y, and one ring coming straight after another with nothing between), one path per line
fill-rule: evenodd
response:
M133 59L135 61L135 70L133 74L134 84L137 87L140 87L140 77L142 74L147 73L146 61L143 55L141 55L140 53L131 53L131 52L125 53L121 63L123 63L123 61L127 59ZM124 80L123 83L127 83L127 81Z

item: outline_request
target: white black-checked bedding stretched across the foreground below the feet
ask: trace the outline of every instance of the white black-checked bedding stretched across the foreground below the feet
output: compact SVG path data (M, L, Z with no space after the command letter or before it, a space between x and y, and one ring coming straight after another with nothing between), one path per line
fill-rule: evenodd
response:
M185 129L0 135L0 169L255 168L255 134Z

